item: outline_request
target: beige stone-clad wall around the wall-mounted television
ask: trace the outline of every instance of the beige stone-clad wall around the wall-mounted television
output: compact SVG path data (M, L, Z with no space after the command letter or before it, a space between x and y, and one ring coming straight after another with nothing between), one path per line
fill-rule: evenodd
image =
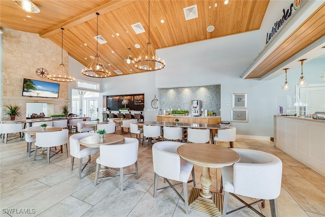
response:
M21 107L21 116L16 119L25 119L26 102L52 103L51 114L60 114L61 106L68 105L68 83L60 82L58 99L23 97L23 79L49 81L36 74L38 68L44 68L54 73L61 63L61 47L38 34L21 32L9 28L2 29L2 114L1 120L9 120L6 114L8 109L4 105L18 105ZM68 68L68 53L63 50L63 64ZM54 82L57 83L57 82Z

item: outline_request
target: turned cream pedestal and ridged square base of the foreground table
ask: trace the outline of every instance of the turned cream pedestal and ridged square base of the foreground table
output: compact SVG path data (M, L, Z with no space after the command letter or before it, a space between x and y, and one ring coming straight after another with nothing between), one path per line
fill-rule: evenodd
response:
M209 167L202 167L200 181L202 189L192 188L188 207L212 216L222 216L223 196L210 191L212 179Z

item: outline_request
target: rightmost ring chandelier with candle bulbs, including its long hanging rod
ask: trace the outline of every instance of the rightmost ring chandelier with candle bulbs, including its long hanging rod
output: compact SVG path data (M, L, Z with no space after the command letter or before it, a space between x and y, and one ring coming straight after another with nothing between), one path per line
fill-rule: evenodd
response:
M144 71L156 71L165 68L165 61L161 61L156 51L152 47L150 43L150 0L148 1L148 43L147 47L140 53L139 57L135 59L133 66L136 69L144 70ZM157 57L157 58L156 58ZM156 67L156 64L159 67Z

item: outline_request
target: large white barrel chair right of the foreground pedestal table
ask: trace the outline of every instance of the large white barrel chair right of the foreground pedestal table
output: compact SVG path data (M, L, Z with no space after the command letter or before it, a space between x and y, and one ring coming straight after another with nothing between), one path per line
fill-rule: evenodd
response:
M271 215L273 217L279 216L276 199L281 191L281 160L273 154L259 150L238 148L233 148L233 150L239 154L239 162L221 169L222 186L220 189L223 188L224 190L222 216L225 217L226 214L237 212L246 207L259 213L251 205L262 203L264 208L265 200L270 201ZM245 205L228 211L230 194ZM259 200L248 204L237 195Z

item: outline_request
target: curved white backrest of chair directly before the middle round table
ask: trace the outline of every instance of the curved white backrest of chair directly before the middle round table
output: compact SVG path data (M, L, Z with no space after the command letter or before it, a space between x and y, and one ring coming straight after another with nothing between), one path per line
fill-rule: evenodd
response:
M100 164L113 168L132 165L138 160L138 149L136 138L124 138L123 144L100 145Z

